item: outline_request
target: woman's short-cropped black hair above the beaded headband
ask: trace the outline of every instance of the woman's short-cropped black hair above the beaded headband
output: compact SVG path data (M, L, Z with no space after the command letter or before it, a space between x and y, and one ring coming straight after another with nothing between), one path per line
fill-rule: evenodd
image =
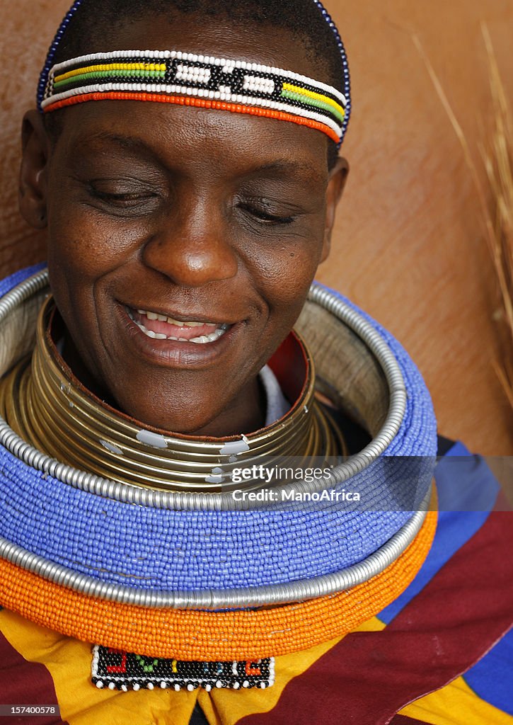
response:
M263 25L287 30L298 38L308 57L321 65L328 83L343 91L341 51L332 28L314 0L235 0L230 3L222 0L83 0L67 25L52 62L60 63L91 52L91 41L97 36L108 44L121 25L149 15L176 20L178 14L202 14L242 27ZM45 118L52 136L59 130L54 116L49 114ZM337 155L335 143L329 141L329 168L333 167Z

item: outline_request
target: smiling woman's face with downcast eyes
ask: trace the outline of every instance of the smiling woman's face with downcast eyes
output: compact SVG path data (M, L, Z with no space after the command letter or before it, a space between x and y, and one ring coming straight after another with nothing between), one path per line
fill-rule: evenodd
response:
M219 26L197 27L145 20L108 49L176 48L319 75L288 36L230 30L228 41ZM185 433L259 427L257 373L328 253L345 167L328 174L327 143L293 123L171 104L64 111L39 154L51 288L78 357L121 410Z

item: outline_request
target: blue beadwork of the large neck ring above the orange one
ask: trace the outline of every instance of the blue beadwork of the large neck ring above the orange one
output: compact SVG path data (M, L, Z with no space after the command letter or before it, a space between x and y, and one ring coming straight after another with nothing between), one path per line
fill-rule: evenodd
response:
M407 507L428 490L436 426L412 360L393 336L352 307L388 343L407 393L399 431L385 454L334 487L362 491L372 510L351 510L333 501L250 512L133 505L64 484L1 448L0 536L101 581L157 591L280 584L340 571L367 558L409 520ZM413 497L405 485L405 457L417 461ZM389 471L390 460L401 466Z

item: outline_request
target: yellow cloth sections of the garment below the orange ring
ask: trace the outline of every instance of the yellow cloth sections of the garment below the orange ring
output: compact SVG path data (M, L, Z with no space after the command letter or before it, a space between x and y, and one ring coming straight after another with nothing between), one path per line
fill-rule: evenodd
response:
M358 631L379 631L385 625L373 617ZM0 631L26 660L46 666L54 681L61 717L69 725L188 725L199 701L210 725L235 725L250 713L275 707L285 685L300 676L342 637L275 659L275 684L269 689L175 692L141 689L119 692L91 684L91 645L64 637L7 610L0 611ZM481 700L462 677L408 705L401 714L432 725L512 725L513 717ZM271 716L270 716L271 717Z

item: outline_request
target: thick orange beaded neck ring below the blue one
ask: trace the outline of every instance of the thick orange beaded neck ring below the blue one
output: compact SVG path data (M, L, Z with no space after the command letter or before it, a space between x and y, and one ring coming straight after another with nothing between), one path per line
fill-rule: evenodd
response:
M428 511L419 534L378 576L328 597L259 610L205 612L143 608L95 599L0 560L0 602L85 642L155 658L256 660L298 652L346 634L398 597L435 535Z

